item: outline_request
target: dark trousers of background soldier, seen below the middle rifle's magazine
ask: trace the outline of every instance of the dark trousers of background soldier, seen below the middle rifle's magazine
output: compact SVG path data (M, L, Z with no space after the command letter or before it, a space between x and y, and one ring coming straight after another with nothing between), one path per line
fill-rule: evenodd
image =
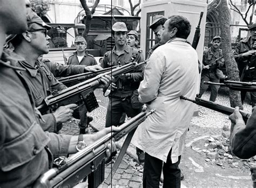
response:
M73 117L80 120L78 123L80 129L85 129L87 127L87 108L84 104L74 110Z

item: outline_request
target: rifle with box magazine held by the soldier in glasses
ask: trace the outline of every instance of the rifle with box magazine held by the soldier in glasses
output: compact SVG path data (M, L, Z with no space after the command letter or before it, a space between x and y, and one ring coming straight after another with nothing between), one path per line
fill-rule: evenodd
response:
M143 65L146 62L147 60L140 63L132 61L129 64L111 69L111 71L109 72L99 74L95 78L91 78L74 86L63 89L59 92L56 92L53 95L49 95L43 100L43 102L37 107L37 109L41 113L44 113L49 109L56 109L59 106L65 106L71 103L78 103L79 101L84 101L88 112L91 112L93 109L96 109L98 107L98 103L93 93L93 90L100 85L100 78L102 76L109 75L117 78L119 75L131 72L133 69L136 69L138 66Z

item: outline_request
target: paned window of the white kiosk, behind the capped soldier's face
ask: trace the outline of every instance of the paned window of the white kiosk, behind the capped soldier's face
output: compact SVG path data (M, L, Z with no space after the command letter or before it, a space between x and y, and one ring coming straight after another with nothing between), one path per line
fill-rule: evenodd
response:
M157 39L156 39L156 35L154 34L154 32L149 28L150 25L153 22L153 18L156 15L163 15L164 16L164 11L160 11L160 12L150 12L147 13L147 31L146 31L146 54L147 52L149 52L149 49L157 44Z

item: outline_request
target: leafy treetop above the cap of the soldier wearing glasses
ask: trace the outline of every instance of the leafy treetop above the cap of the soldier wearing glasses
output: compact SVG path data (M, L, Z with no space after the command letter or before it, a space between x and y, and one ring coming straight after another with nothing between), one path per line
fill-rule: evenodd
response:
M30 2L31 9L41 18L50 10L49 0L30 0Z

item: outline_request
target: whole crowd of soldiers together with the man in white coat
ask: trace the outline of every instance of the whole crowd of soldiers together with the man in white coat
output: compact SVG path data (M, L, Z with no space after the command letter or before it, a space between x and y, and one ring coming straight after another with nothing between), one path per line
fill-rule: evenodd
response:
M191 31L187 18L154 17L150 29L156 34L158 44L152 46L147 54L147 64L122 74L117 80L108 75L100 78L102 84L99 88L111 90L106 128L96 134L85 135L85 128L93 118L86 115L84 103L60 106L44 114L36 107L47 96L66 89L56 76L125 65L131 58L137 62L144 61L138 33L128 32L123 22L113 24L115 45L104 54L100 65L86 53L86 40L76 37L76 52L69 58L68 65L62 65L38 58L49 52L47 31L50 26L30 9L29 1L0 0L0 8L0 187L32 187L39 176L52 168L54 158L75 154L110 131L118 131L118 126L125 121L124 117L139 114L143 104L147 106L146 110L156 109L140 124L133 136L138 159L144 163L143 187L159 187L162 171L164 187L180 187L179 163L195 109L192 102L181 100L180 96L193 99L199 88L200 95L206 90L199 85L197 52L186 40ZM239 67L253 62L255 30L256 24L250 27L251 36L240 41L235 49ZM3 48L4 43L6 48ZM204 52L203 80L220 79L216 74L224 62L220 43L221 38L214 37L213 46ZM254 76L251 72L248 74L252 66L255 64L251 63L242 71L243 81L254 81L255 72ZM212 90L210 100L214 101L218 88ZM251 93L253 106L254 95ZM71 117L80 119L79 136L58 134L62 123ZM235 124L231 136L234 154L241 158L254 156L255 107L246 126L238 107L230 119ZM111 156L114 150L114 143L107 144L106 155Z

